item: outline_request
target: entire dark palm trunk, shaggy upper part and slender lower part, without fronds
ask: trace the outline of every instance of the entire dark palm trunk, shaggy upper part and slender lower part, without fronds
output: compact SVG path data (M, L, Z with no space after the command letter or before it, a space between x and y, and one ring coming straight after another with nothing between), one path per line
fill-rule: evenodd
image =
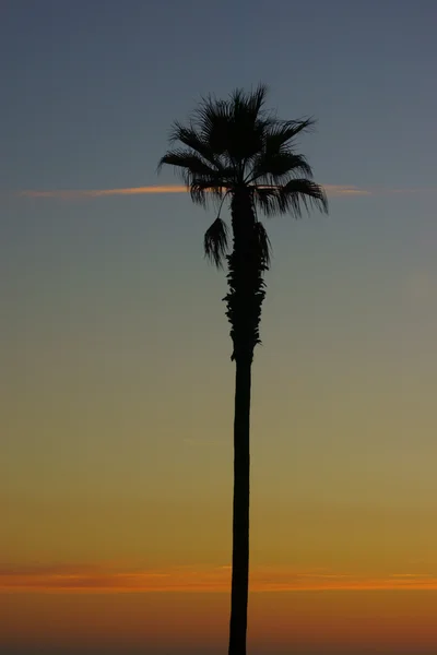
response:
M234 248L228 259L227 318L236 362L234 418L234 517L229 655L246 655L249 591L250 385L259 340L265 262L259 248L252 198L247 188L232 201Z

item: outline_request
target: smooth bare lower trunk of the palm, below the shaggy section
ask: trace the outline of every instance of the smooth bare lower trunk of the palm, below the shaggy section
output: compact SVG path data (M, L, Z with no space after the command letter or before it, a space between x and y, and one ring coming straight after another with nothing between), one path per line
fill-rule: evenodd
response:
M251 357L237 357L229 655L246 655L249 591L250 385Z

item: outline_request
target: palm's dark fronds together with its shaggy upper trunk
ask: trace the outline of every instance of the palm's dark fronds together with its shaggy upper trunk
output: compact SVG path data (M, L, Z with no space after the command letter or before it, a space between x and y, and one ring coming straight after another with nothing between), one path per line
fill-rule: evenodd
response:
M164 164L177 168L197 203L204 205L214 198L222 206L229 196L233 252L227 254L228 230L220 212L205 233L204 251L217 267L223 266L225 258L228 260L231 294L225 299L233 326L233 358L238 347L236 342L241 341L238 332L247 342L245 327L249 325L244 323L251 323L251 347L260 343L262 276L269 269L270 241L258 211L265 216L290 213L295 217L311 205L328 211L322 187L312 181L311 167L294 147L296 136L308 130L314 120L280 120L275 114L265 110L265 97L267 87L260 84L250 93L236 90L225 100L213 96L203 98L188 126L174 123L170 143L176 147L169 150L158 165L160 169ZM241 287L237 279L241 278L238 269L246 278L249 271L252 272L252 284L244 285L246 302L241 302L241 293L235 287ZM250 296L251 308L248 307ZM238 314L240 321L237 321Z

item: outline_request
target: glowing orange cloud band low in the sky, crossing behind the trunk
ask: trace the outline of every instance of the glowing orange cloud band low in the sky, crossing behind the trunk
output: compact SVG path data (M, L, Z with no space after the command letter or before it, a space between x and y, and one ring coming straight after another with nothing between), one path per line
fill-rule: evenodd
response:
M162 570L120 570L115 567L2 567L0 593L153 593L228 592L231 567L173 567ZM394 573L364 576L319 570L253 567L252 592L433 590L437 576Z

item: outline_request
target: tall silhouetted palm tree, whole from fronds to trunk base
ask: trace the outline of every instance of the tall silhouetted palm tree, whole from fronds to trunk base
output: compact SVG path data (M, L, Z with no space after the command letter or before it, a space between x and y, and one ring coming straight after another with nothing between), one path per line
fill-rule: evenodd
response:
M233 560L229 655L246 654L249 582L250 386L253 349L260 344L264 272L270 241L259 219L290 213L299 217L311 205L328 212L322 187L311 181L305 156L295 152L295 139L311 119L279 120L264 108L267 87L234 91L225 99L203 98L187 126L176 121L172 150L162 157L176 167L193 202L220 204L218 216L204 235L204 252L217 266L227 261L226 315L236 364L234 417ZM231 205L228 229L220 217L225 199Z

